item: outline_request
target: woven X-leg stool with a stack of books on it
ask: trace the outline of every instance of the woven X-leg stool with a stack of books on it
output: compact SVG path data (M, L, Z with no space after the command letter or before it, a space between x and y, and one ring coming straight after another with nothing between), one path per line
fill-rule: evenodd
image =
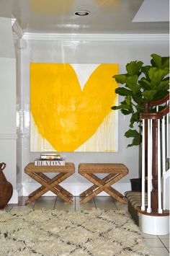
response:
M28 196L29 198L25 201L26 205L32 203L37 198L40 198L41 195L49 190L67 203L73 203L73 200L69 198L73 195L58 184L73 175L75 172L74 164L66 163L63 166L35 166L34 163L30 163L24 168L24 172L42 185ZM50 179L43 172L58 172L58 174Z

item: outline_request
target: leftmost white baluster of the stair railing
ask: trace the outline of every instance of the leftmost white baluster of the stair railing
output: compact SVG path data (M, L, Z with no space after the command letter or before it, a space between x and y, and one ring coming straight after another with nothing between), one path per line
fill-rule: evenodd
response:
M145 119L143 119L143 135L142 135L142 206L141 210L146 210L145 202Z

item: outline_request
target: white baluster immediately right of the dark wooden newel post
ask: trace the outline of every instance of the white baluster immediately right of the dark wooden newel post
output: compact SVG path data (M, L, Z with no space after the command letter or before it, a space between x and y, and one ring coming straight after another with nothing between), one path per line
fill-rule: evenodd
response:
M161 136L160 136L160 119L158 119L158 213L162 213L162 208L161 208Z

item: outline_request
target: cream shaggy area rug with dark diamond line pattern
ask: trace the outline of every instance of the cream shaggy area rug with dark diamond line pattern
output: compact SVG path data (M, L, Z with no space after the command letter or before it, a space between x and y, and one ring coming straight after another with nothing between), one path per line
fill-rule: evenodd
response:
M0 255L150 256L125 211L0 211Z

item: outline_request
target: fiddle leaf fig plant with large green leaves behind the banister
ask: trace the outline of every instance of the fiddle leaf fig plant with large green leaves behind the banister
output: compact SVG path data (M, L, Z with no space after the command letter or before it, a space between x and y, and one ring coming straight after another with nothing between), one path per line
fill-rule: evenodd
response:
M143 112L143 102L159 100L169 92L169 57L156 53L151 57L151 66L143 66L142 61L131 61L126 65L126 74L113 76L122 85L115 92L124 100L112 110L130 115L130 129L125 137L133 138L133 141L128 146L139 145L142 141L140 113ZM139 132L134 128L135 123L138 123Z

